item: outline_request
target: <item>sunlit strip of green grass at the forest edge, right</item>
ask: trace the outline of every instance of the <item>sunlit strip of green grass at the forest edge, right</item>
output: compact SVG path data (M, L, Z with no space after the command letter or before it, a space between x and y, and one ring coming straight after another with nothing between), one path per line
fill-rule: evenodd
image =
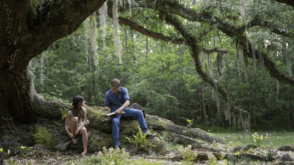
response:
M232 144L234 146L245 144L256 144L253 141L252 134L255 132L236 132L236 133L213 133L215 136L223 139L225 143ZM263 135L265 137L268 134L268 139L263 138L263 146L265 147L281 147L283 145L291 145L294 143L294 132L256 132L259 137ZM240 139L242 138L242 139ZM271 142L271 143L270 143Z

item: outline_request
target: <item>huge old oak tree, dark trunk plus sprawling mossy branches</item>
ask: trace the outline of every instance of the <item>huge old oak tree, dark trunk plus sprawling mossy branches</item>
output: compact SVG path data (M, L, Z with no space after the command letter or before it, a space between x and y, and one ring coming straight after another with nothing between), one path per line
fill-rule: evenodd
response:
M292 1L281 1L294 6ZM32 104L33 98L30 91L30 79L27 71L29 61L40 55L44 50L60 38L73 33L81 23L93 12L97 11L105 0L45 0L45 1L26 1L26 0L1 0L0 1L0 115L1 123L6 119L13 117L14 120L26 122L36 117L36 108ZM221 1L220 1L221 2ZM113 5L111 1L108 6ZM119 11L128 9L121 7ZM168 10L166 9L168 6ZM221 11L225 10L221 8ZM245 31L254 26L260 26L272 33L280 36L293 37L293 32L277 27L268 20L262 20L263 17L257 15L251 16L248 24L234 25L228 20L240 18L240 14L235 16L225 15L226 19L210 12L213 6L207 6L207 9L191 9L184 6L179 1L157 0L157 1L137 1L140 8L149 8L158 11L158 16L165 19L166 23L174 26L183 38L174 39L166 37L164 34L156 33L137 25L134 21L127 18L120 18L120 23L131 26L134 30L148 36L181 44L183 41L191 47L191 55L196 64L196 71L203 80L208 82L214 88L218 88L220 95L227 102L227 92L223 87L210 78L200 66L199 52L201 49L199 41L201 37L209 33L204 31L202 36L193 36L185 30L184 25L178 17L189 21L206 23L211 29L217 28L229 37L236 38L238 44L248 47L246 55L253 58L251 45ZM215 6L214 6L215 7ZM229 9L228 9L229 10ZM111 16L111 12L108 13ZM217 50L215 50L217 51ZM264 65L268 69L270 76L290 85L294 85L294 79L281 73L275 63L262 53ZM229 105L229 104L228 104ZM232 110L238 110L234 105L230 106ZM239 111L238 111L239 112ZM236 113L238 113L236 112Z

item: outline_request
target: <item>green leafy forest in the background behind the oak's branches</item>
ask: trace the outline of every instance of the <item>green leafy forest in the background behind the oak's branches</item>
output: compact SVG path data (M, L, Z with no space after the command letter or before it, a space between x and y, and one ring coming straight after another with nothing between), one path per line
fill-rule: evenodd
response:
M240 10L239 1L223 3L220 7L217 2L213 1L213 5L218 8L210 9L215 11L215 14L228 9L231 13L225 15L237 15L238 19L232 20L233 23L242 24L246 21L241 18L241 14L234 13ZM199 9L209 2L181 3ZM281 27L293 27L292 7L274 1L262 1L263 7L260 9L256 7L258 3L260 1L246 1L248 15L260 12L267 15L268 20L282 24ZM171 37L180 36L173 26L155 18L156 11L148 8L132 8L120 12L120 16L131 17L138 25L148 30ZM285 20L281 21L281 18ZM105 40L102 36L103 29L99 25L99 16L92 15L90 19L92 21L88 24L84 21L72 35L54 42L47 51L31 60L29 69L36 77L34 87L38 94L57 96L69 102L73 96L81 95L86 105L103 107L105 93L111 89L110 82L117 78L121 81L121 86L128 89L131 104L138 103L143 106L149 115L157 115L183 126L187 125L185 119L193 119L192 127L206 131L243 130L238 124L234 124L232 115L229 116L230 119L226 119L225 101L219 100L214 89L203 83L200 75L196 73L188 46L184 43L161 41L120 24L120 62L120 58L115 55L112 19L107 17ZM293 130L292 85L270 77L269 71L263 66L262 60L258 60L258 56L255 63L252 58L248 58L248 61L243 58L242 51L246 51L246 48L242 51L238 46L236 48L236 38L228 37L206 23L186 20L184 24L195 36L201 36L205 29L208 31L201 40L202 47L228 50L228 53L222 56L221 73L218 73L216 52L207 54L202 51L201 62L205 72L218 80L228 91L231 102L249 112L251 131ZM97 31L91 30L90 25L97 28ZM88 34L93 31L97 35L96 40L92 40ZM248 44L255 43L256 55L258 52L266 53L273 59L278 70L292 77L292 37L278 36L260 26L248 29L246 27L245 34ZM96 42L97 49L93 42ZM93 62L95 51L98 54L98 65ZM240 54L240 58L236 54ZM243 61L247 61L247 64Z

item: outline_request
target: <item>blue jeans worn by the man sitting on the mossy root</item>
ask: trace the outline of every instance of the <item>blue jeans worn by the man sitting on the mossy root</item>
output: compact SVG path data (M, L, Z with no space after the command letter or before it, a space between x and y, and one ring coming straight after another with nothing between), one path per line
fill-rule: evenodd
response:
M118 115L111 115L112 120L112 138L113 138L113 145L117 146L119 145L119 119L121 117L124 118L137 118L137 121L141 127L141 130L143 133L146 133L148 131L147 124L145 122L143 112L141 110L135 110L135 109L128 109L123 110L124 114L118 114ZM115 112L115 110L111 110L111 113Z

